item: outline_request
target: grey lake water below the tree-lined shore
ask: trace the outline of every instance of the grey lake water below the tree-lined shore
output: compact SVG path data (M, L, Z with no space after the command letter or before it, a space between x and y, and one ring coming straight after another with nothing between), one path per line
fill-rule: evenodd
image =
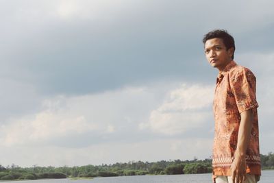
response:
M3 181L10 182L11 181ZM25 180L16 183L211 183L211 174L191 174L191 175L140 175L123 176L112 178L94 178L92 180ZM262 171L260 183L273 183L274 171Z

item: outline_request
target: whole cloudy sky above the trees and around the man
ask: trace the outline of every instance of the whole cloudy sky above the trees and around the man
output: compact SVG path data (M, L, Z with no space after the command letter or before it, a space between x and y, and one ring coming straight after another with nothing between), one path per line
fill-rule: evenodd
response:
M201 39L227 29L257 77L274 151L273 1L1 0L0 164L209 158L218 71Z

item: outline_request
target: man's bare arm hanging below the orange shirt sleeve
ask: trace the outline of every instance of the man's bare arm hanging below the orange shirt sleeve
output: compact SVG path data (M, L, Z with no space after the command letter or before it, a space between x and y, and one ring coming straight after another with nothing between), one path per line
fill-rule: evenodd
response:
M249 138L253 123L252 110L246 110L240 113L240 127L238 132L237 149L234 154L234 161L232 163L232 180L236 183L241 183L245 180L247 163L245 155L247 151L247 145L249 144Z

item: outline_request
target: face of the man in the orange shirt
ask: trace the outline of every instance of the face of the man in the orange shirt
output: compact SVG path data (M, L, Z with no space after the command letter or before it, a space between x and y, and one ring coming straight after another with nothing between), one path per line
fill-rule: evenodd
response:
M219 71L223 71L225 66L232 60L233 52L234 48L227 50L221 38L212 38L205 43L206 58Z

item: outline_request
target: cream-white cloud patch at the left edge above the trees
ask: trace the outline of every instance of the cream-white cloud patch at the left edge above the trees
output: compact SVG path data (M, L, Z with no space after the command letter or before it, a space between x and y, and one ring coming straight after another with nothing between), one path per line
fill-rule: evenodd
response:
M1 143L6 146L49 141L68 134L82 134L97 129L84 116L69 117L60 112L43 111L32 117L10 121L0 128Z

